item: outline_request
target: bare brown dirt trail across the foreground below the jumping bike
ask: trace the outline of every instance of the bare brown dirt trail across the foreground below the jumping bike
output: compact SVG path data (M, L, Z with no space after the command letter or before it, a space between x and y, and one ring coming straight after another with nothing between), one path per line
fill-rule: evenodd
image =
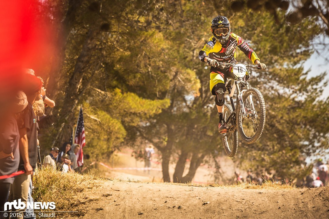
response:
M81 201L87 201L80 208L84 218L93 219L329 218L328 187L242 189L108 180L86 189Z

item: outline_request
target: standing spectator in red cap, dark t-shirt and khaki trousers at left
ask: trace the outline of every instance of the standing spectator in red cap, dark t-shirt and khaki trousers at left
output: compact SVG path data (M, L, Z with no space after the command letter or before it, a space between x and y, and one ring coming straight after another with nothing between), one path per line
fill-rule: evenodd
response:
M8 201L21 199L26 204L29 194L29 186L31 174L36 167L38 159L38 144L37 144L37 118L33 111L33 103L39 99L42 81L29 74L23 75L23 92L26 94L28 105L24 115L22 115L23 124L19 128L19 152L20 162L18 170L25 170L25 174L15 177L13 185L10 189ZM24 209L14 209L16 212L24 212ZM20 214L17 214L20 215ZM18 217L22 218L22 217Z

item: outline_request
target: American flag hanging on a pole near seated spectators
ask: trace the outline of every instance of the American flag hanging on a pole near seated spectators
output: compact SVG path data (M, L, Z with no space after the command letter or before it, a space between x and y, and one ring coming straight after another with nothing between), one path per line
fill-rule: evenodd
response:
M78 166L82 166L83 165L83 150L82 150L82 148L86 145L85 124L83 122L82 107L80 108L80 112L79 112L77 129L75 130L74 143L80 144L80 146L81 146L80 150L77 153L77 163L78 163Z

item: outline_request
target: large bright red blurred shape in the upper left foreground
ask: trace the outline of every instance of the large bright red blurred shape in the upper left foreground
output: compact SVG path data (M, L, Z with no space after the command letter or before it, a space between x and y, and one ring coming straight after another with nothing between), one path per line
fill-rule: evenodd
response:
M0 85L19 82L21 68L42 69L49 64L45 60L54 53L54 25L45 2L0 1Z

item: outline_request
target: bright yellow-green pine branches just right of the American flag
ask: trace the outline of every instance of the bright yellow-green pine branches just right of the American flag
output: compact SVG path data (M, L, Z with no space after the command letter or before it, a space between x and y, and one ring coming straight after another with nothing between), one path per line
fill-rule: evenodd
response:
M136 126L168 106L167 99L143 99L134 93L122 94L119 89L107 92L102 100L104 104L97 106L99 100L93 97L103 92L94 93L83 106L88 136L86 153L92 157L107 158L121 145L127 135L124 124Z

